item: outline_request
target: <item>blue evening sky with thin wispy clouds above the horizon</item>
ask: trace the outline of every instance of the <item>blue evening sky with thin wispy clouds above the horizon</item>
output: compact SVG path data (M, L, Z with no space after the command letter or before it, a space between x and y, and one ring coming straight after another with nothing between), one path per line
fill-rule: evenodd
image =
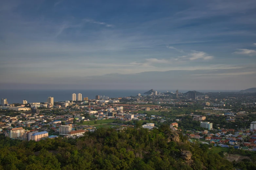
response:
M255 0L0 1L0 88L256 87L255 18Z

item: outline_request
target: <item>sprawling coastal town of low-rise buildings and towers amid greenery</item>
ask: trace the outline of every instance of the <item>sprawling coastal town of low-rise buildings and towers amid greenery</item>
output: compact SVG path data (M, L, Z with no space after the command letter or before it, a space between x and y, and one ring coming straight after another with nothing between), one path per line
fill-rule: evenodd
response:
M168 124L192 143L256 151L256 97L251 92L156 92L130 97L71 94L70 101L9 104L1 100L1 134L20 140L78 138L98 128Z

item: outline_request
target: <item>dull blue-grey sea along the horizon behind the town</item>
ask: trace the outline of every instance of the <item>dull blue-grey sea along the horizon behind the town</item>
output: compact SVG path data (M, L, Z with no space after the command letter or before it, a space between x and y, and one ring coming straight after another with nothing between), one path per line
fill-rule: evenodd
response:
M149 89L150 90L150 89ZM96 95L113 97L129 97L141 95L149 90L0 90L0 99L6 98L8 103L22 103L27 100L28 103L46 102L48 97L53 97L54 101L71 100L73 93L81 93L82 98L88 97L95 99ZM157 92L166 92L166 90L155 90ZM168 92L176 92L176 90L167 90ZM188 92L190 90L179 90L179 92ZM216 90L207 90L198 92L221 92ZM223 92L223 91L222 91ZM227 90L225 92L228 92ZM231 92L231 91L230 91ZM234 92L234 91L232 91Z

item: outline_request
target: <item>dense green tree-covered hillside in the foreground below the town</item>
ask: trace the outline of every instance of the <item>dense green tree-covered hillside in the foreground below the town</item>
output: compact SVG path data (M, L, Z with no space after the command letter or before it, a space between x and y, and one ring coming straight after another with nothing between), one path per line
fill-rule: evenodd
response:
M138 125L139 126L139 125ZM1 136L0 169L232 169L232 163L208 147L169 140L168 125L159 129L97 129L94 133L39 142L11 140ZM182 150L192 152L190 165L180 158Z

